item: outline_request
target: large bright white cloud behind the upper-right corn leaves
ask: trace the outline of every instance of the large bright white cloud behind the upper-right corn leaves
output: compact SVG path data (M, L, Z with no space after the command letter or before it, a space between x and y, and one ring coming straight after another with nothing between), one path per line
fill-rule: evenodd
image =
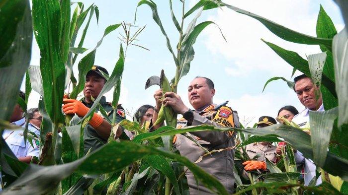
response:
M226 2L295 31L316 36L317 13L311 13L313 7L310 0L226 0ZM320 52L318 46L295 44L278 38L254 18L226 7L217 10L208 17L208 20L220 26L228 43L221 37L219 30L211 25L203 31L207 37L205 46L213 54L222 55L231 62L225 66L227 74L245 76L256 72L255 70L258 72L267 70L272 75L291 72L291 66L279 58L261 41L261 38L284 49L295 51L303 58Z

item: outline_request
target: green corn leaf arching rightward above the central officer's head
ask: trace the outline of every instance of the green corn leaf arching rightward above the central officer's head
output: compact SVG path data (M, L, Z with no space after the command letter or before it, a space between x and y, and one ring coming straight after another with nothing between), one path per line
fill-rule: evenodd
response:
M196 42L196 39L198 37L198 35L202 32L202 30L207 27L209 24L215 24L212 21L205 21L202 22L200 24L198 24L197 26L194 27L194 29L192 30L192 32L190 32L188 35L185 36L185 39L182 43L181 46L181 50L180 50L180 75L179 75L179 79L186 75L187 72L190 69L190 63L194 58L194 50L193 50L193 44ZM215 24L216 25L216 24ZM222 31L220 29L220 27L218 25L216 25L220 32L222 37L225 39L224 35L222 34ZM226 39L225 39L226 41ZM176 81L177 82L177 81Z

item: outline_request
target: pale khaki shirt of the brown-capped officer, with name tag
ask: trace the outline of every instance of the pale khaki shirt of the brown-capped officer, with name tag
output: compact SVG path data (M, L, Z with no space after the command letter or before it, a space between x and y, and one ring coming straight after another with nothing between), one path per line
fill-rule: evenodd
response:
M260 142L248 144L245 148L250 159L254 159L255 156L258 157L255 159L257 161L266 161L266 158L273 163L276 161L276 149L277 147L271 143L266 145L261 144Z

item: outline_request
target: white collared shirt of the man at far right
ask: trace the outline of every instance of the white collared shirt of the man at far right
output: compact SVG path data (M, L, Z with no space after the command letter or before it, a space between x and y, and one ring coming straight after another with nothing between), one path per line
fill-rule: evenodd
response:
M324 110L324 104L322 104L317 111L318 112L325 111ZM298 113L292 119L292 121L296 125L298 125L300 128L310 128L310 126L309 126L309 109L306 108L302 112ZM299 158L299 157L303 158L302 153L300 151L297 151L295 153L295 157L296 156L297 156L297 158ZM314 162L311 159L304 158L303 162L304 162L304 172L305 172L305 175L304 175L305 186L308 186L308 184L310 183L312 178L316 176L315 175L316 166L315 166ZM321 183L322 183L321 177L319 177L318 180L317 180L317 184L316 185L319 185Z

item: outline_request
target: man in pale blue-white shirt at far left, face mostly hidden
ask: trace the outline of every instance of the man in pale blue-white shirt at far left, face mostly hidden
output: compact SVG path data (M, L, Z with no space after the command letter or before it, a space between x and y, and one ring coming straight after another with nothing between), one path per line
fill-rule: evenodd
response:
M20 91L19 96L23 100L25 99L25 95L22 91ZM20 106L16 104L11 115L11 124L24 128L25 118L23 117L23 113ZM40 130L31 124L28 125L28 131L40 137ZM39 157L39 143L33 141L33 146L30 144L29 140L25 143L23 132L23 130L3 130L2 137L19 161L30 163L33 156Z

